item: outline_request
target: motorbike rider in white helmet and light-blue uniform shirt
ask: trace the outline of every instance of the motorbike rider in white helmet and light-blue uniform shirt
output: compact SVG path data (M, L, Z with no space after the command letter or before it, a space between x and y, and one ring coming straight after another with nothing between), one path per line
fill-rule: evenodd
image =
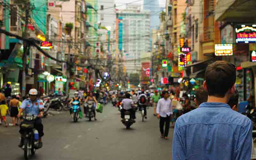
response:
M20 114L23 112L23 110L25 111L25 115L27 114L38 115L35 122L35 129L38 131L38 134L39 134L38 148L42 148L43 147L42 137L44 136L44 132L43 132L44 126L41 120L44 112L43 100L37 98L38 92L34 88L30 89L28 94L29 94L29 98L23 100L23 102L21 103L18 117L20 118ZM23 123L26 123L26 120L22 121L21 124ZM20 128L20 134L22 135L23 133L24 133L24 130ZM24 137L21 136L19 147L22 147L23 145L24 145Z

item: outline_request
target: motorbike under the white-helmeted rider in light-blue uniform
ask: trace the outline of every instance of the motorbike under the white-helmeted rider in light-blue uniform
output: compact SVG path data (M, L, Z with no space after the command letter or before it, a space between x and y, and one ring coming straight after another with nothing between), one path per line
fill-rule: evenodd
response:
M27 116L22 116L25 122L21 124L21 128L24 129L22 137L24 138L24 145L21 147L24 151L24 158L29 159L30 156L36 153L38 148L38 131L34 128L37 115L28 114Z

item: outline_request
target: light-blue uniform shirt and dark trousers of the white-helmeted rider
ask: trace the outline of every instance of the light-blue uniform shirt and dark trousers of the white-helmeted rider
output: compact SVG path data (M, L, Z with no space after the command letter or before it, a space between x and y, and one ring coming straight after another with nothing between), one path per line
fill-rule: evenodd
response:
M22 108L25 111L25 114L30 113L33 115L39 115L39 110L44 108L43 100L36 99L36 101L32 103L31 100L28 98L26 100L23 100L23 102L20 105L20 108ZM41 118L36 118L35 128L38 131L39 137L42 137L44 135L44 126L42 124ZM20 129L20 133L23 134L22 129Z

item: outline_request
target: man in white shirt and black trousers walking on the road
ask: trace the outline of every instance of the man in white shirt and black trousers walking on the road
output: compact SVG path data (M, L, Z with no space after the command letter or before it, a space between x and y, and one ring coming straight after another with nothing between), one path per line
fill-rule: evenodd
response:
M168 91L163 91L164 98L161 98L156 107L157 118L160 118L159 127L161 138L168 140L170 120L172 115L172 101L169 99ZM165 131L164 131L165 123Z

